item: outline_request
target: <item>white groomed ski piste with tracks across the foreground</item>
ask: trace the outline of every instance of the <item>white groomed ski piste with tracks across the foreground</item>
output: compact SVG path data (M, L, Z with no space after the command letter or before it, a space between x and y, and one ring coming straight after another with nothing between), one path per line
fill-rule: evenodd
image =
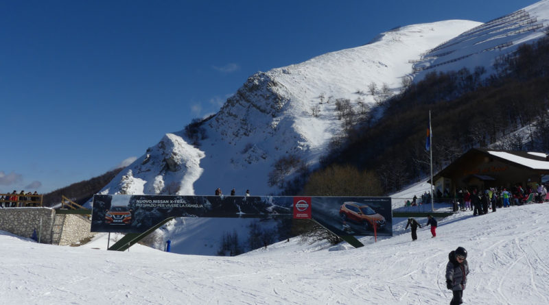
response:
M0 304L448 304L447 255L469 252L464 304L549 304L549 204L439 219L412 242L364 247L299 238L241 256L194 256L144 246L108 252L104 235L80 247L1 232ZM424 224L425 219L418 219Z

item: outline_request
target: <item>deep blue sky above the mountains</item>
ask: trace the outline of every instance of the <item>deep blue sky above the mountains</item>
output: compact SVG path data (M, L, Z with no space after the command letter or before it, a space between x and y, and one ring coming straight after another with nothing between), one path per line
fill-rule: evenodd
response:
M114 169L217 112L257 71L535 2L1 1L0 193Z

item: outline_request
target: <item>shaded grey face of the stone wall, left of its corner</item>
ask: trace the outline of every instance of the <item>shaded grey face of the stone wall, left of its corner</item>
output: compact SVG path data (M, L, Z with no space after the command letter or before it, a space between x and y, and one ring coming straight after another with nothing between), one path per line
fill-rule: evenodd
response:
M36 230L40 243L51 243L55 217L52 208L0 208L0 230L29 238Z

